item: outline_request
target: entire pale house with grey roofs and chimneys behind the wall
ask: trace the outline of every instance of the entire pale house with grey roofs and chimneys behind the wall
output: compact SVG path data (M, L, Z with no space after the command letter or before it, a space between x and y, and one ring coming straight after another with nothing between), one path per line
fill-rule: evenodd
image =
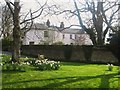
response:
M47 22L47 24L50 23ZM23 45L52 45L57 42L62 42L64 45L83 45L85 44L83 38L88 37L88 34L81 29L63 29L64 25L56 27L47 24L34 23L25 33L22 40Z

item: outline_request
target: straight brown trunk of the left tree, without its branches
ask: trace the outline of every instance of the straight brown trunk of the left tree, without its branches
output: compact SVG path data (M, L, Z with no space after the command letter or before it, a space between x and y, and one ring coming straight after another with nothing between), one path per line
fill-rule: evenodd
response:
M19 18L20 6L19 2L14 2L14 15L13 15L13 53L12 61L18 62L20 59L20 46L21 46L21 33L20 33L20 18Z

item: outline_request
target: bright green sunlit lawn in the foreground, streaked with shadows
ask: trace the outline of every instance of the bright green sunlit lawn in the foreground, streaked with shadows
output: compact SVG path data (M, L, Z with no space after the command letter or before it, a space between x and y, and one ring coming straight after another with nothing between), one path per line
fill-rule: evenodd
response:
M59 70L3 72L3 88L118 88L117 66L62 62ZM53 90L53 89L52 89Z

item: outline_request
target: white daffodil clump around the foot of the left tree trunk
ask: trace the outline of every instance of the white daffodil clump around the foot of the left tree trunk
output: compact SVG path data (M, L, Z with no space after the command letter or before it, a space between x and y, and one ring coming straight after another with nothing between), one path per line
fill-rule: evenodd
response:
M29 62L26 62L25 60L28 60L28 58L24 58L25 60L21 60L20 63L12 62L11 56L2 54L1 56L1 62L0 67L2 71L20 71L25 72L28 69L28 66L30 65Z

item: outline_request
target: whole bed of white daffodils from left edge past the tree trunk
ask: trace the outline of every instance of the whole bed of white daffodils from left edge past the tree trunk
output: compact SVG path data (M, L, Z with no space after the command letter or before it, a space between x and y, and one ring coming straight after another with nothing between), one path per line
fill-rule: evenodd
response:
M2 61L0 66L2 71L26 71L29 66L34 66L39 70L58 70L60 68L60 62L51 61L44 58L44 55L39 55L36 58L20 58L20 63L11 62L11 57L2 55Z

